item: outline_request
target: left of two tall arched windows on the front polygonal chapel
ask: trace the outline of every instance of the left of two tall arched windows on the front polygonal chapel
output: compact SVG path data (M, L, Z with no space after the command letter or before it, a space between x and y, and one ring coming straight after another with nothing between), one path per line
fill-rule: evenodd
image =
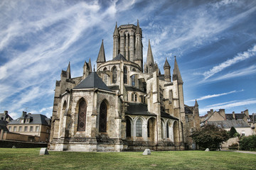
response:
M80 101L78 108L78 131L85 131L87 106L84 100Z

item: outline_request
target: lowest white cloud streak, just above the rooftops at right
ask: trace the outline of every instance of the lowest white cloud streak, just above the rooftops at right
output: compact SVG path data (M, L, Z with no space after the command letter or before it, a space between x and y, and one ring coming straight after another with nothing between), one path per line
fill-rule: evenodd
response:
M205 114L207 111L210 111L210 109L220 109L220 108L235 108L238 106L245 106L245 105L251 105L256 104L256 98L250 98L247 100L240 100L240 101L228 101L224 103L216 103L213 105L206 106L204 108L199 108L200 114Z

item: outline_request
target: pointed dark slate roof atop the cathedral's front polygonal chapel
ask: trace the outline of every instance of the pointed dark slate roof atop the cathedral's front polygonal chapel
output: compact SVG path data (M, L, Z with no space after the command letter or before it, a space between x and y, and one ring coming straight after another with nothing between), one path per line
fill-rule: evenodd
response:
M107 85L102 81L102 79L100 79L100 77L97 75L96 72L92 72L91 74L89 74L85 79L80 81L78 86L75 86L74 89L92 89L92 88L111 91L107 87Z

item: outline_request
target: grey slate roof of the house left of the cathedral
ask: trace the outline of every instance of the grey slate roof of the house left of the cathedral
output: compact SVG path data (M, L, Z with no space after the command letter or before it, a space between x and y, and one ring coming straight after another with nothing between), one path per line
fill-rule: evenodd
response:
M30 123L21 123L21 118L17 118L16 120L12 120L8 125L17 125L17 124L39 124L39 125L50 125L50 119L46 117L46 115L41 114L27 114L25 115L25 119L30 118Z

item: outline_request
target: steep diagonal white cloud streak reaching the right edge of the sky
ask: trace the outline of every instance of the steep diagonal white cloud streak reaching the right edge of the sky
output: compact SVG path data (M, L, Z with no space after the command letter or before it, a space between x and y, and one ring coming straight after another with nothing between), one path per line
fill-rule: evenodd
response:
M209 71L204 72L203 76L205 77L205 79L208 79L212 77L214 74L221 72L223 69L230 67L231 65L238 63L242 60L246 60L250 57L253 57L255 55L256 55L256 45L254 45L252 48L248 49L245 52L238 53L238 55L235 55L233 59L226 60L225 62L218 64L218 66L213 67Z

